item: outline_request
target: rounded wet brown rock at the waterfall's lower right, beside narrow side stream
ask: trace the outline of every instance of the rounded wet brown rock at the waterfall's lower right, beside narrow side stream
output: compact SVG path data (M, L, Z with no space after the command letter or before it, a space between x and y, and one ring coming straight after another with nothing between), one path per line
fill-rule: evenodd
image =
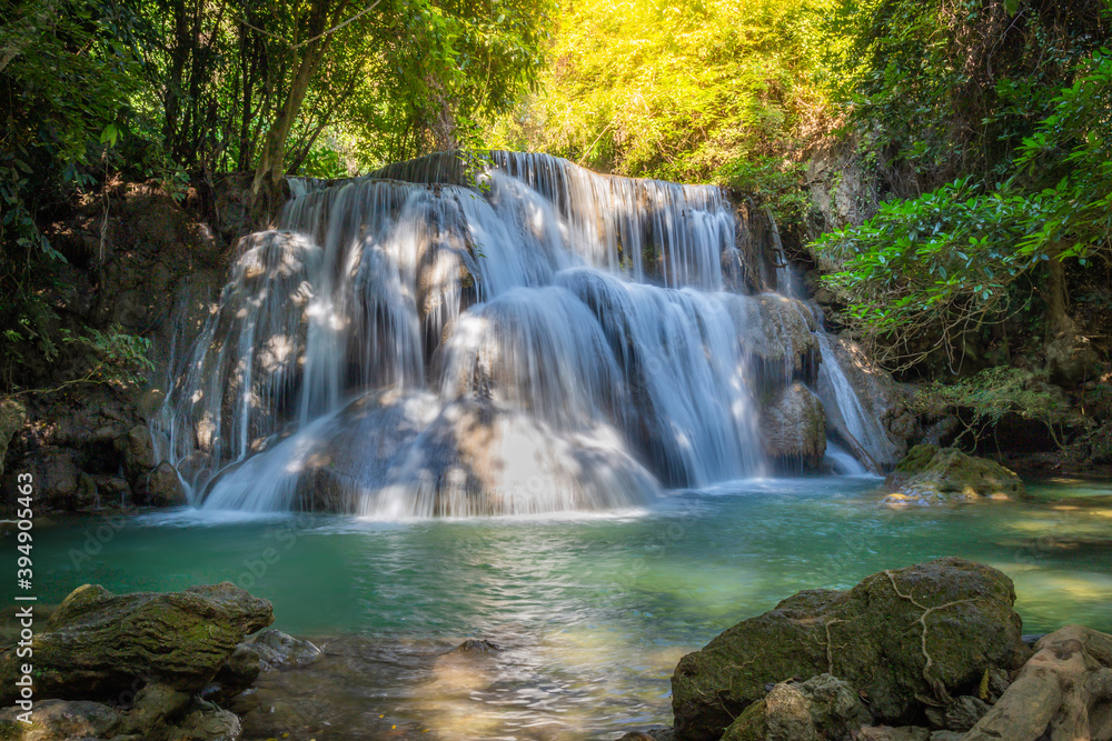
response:
M826 452L826 413L802 383L785 387L762 410L765 452L785 468L816 469Z

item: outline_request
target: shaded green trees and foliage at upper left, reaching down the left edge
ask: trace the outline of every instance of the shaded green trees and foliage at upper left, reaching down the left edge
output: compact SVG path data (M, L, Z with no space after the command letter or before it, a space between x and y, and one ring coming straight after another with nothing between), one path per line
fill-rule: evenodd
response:
M550 11L550 0L0 0L6 366L52 361L72 339L37 292L64 260L39 229L52 209L119 171L180 201L216 173L335 178L475 140L536 80ZM118 330L80 337L99 373L126 378L139 358Z

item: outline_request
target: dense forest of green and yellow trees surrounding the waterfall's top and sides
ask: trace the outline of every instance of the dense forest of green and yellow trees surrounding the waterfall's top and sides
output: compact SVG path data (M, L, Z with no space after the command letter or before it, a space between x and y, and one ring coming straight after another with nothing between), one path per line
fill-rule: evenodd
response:
M112 182L247 173L262 220L284 174L508 148L767 208L833 327L942 381L924 411L1063 447L1112 417L1106 0L0 0L0 24L7 390L67 343L81 379L141 370L142 338L48 290L97 256L47 224Z

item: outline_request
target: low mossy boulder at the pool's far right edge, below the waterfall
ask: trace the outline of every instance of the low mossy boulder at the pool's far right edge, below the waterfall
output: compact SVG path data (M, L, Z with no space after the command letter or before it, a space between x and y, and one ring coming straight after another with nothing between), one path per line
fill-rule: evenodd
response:
M931 444L907 451L884 484L893 492L884 500L887 504L1010 499L1024 493L1020 477L1000 463Z

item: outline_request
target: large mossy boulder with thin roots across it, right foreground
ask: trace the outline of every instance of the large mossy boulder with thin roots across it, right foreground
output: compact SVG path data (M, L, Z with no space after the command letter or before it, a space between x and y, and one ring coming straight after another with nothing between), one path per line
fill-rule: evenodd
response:
M1012 581L956 558L882 571L848 591L806 590L684 657L672 677L676 738L718 739L766 684L830 673L881 721L913 720L919 698L969 694L985 671L1030 655Z

